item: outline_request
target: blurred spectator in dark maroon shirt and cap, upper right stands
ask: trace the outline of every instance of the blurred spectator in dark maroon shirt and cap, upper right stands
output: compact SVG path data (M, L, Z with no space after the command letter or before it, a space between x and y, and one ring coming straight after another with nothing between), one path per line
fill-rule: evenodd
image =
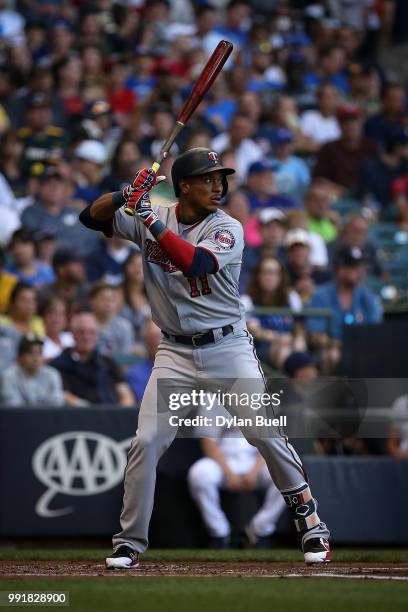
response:
M355 193L364 160L374 157L378 147L362 135L361 111L356 106L340 106L337 119L341 137L321 147L313 176L327 179L339 195Z

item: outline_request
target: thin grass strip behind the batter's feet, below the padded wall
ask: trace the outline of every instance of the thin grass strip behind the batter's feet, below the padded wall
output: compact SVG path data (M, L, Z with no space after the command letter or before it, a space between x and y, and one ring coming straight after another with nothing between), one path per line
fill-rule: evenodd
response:
M0 560L44 559L101 561L111 552L109 548L17 548L0 547ZM155 550L145 553L146 561L301 561L300 550L272 548L270 550ZM406 548L334 548L333 561L408 563Z

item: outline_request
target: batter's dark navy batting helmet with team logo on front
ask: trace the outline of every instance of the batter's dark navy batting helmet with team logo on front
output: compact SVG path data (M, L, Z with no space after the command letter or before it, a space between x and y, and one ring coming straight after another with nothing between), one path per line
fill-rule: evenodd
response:
M222 196L224 197L228 191L226 175L233 174L235 170L223 166L218 157L218 153L211 151L211 149L197 147L185 151L185 153L177 157L171 169L171 180L173 181L174 193L176 196L180 195L179 181L181 179L215 171L223 173Z

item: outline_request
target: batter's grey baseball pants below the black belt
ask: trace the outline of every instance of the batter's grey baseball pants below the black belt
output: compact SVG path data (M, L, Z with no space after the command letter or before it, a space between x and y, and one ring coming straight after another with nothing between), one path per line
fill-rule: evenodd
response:
M265 391L263 373L245 322L234 325L233 333L200 348L176 344L169 339L162 340L140 407L136 436L128 453L120 516L121 531L113 537L114 550L125 544L143 553L148 546L157 463L177 434L177 427L169 422L169 412L158 411L157 408L160 379L177 381L183 392L197 389L202 384L212 385L216 392L224 379L229 381L229 386L230 381L234 381L232 389L236 393ZM229 406L227 410L243 418L254 415L253 410L246 406ZM177 414L179 417L186 416L189 411L190 408L186 407L178 410ZM305 499L310 499L310 494L305 494L305 491L309 492L307 478L302 462L287 438L279 435L264 437L255 426L242 428L242 433L264 457L271 477L284 495L286 503L293 509L298 504L303 509L301 516L304 517L305 505L301 504ZM302 494L297 502L296 494L299 491ZM329 531L317 516L315 507L311 506L310 514L307 530L303 533L295 517L295 525L303 541L313 537L327 538ZM303 525L304 520L302 518Z

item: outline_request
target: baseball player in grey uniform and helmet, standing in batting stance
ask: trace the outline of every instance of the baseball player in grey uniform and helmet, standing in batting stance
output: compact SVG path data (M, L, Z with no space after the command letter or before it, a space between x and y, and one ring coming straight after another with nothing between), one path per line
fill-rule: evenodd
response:
M191 149L172 167L177 203L151 204L149 191L157 176L150 168L138 172L122 192L101 196L80 215L86 227L140 247L152 317L163 332L128 454L121 530L113 537L108 568L136 568L148 546L156 466L177 433L168 415L165 418L157 409L158 381L173 379L183 390L193 390L203 379L231 379L234 391L242 393L251 381L251 391L265 392L238 292L243 229L221 208L227 176L234 172L221 164L216 152ZM135 215L127 215L124 205ZM238 416L247 417L247 411L234 407ZM295 449L285 436L263 437L256 428L242 431L264 457L293 515L306 563L328 562L330 533L317 514Z

